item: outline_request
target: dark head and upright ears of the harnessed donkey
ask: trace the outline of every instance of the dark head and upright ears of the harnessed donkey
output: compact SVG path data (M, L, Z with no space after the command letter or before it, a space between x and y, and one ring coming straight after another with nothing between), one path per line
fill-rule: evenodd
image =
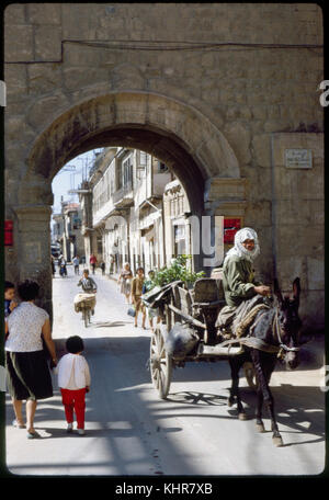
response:
M285 353L284 360L290 368L296 368L299 364L298 332L302 327L298 316L300 295L299 277L296 277L293 283L293 298L290 295L283 298L276 280L274 282L274 293L279 303L277 325Z

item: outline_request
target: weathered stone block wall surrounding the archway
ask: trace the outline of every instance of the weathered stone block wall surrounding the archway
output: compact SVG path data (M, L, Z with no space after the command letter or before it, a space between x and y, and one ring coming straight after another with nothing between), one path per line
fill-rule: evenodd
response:
M308 292L311 304L322 304L324 198L318 194L324 114L318 86L324 57L317 4L15 3L7 7L4 24L5 206L7 217L16 223L18 245L15 207L52 205L52 179L70 155L82 152L82 129L90 137L84 145L93 145L103 122L105 128L143 124L163 133L163 141L155 139L149 152L162 155L178 177L177 164L184 167L182 180L190 160L178 150L166 157L173 141L193 159L205 185L215 179L218 186L218 178L239 180L228 198L224 179L219 200L209 201L206 194L207 213L237 215L236 203L245 225L260 234L261 274L271 277L274 255L276 268L284 268L284 288L291 270L300 270L307 315ZM123 95L129 95L125 103ZM102 106L97 105L100 100ZM285 170L277 170L274 181L282 182L275 181L273 191L277 134L284 134L286 147L297 147L291 144L298 143L298 134L300 140L304 134L310 137L305 140L316 151L314 168L294 172L302 191L292 191L296 182L287 180ZM146 139L133 144L126 136L123 132L122 145L146 149ZM292 228L300 228L300 219L309 221L313 243L300 239L299 263L293 269L284 248L290 235L299 238L302 231ZM19 255L16 247L7 252L14 279ZM321 310L319 306L318 325Z

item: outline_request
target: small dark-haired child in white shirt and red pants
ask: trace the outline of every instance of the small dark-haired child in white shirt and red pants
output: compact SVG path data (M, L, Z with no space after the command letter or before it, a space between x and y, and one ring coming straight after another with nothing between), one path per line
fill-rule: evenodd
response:
M89 393L90 372L81 352L83 340L78 337L69 337L66 341L68 354L64 355L58 365L58 386L61 393L61 401L67 421L67 432L73 430L73 412L77 417L77 428L80 435L84 434L86 393Z

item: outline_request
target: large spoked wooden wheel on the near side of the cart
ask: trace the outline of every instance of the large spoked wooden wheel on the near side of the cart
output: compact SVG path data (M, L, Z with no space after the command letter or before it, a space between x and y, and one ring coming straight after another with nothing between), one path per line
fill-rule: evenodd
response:
M166 399L169 393L172 360L164 349L164 339L160 328L156 328L150 342L150 372L155 389L161 399Z

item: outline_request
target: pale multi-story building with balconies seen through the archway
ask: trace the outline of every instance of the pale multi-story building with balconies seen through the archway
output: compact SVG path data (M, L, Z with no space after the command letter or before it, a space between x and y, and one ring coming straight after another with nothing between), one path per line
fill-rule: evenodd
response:
M86 258L106 272L125 262L148 272L164 264L162 195L172 174L158 159L129 148L105 148L81 185ZM88 220L88 223L87 223Z

